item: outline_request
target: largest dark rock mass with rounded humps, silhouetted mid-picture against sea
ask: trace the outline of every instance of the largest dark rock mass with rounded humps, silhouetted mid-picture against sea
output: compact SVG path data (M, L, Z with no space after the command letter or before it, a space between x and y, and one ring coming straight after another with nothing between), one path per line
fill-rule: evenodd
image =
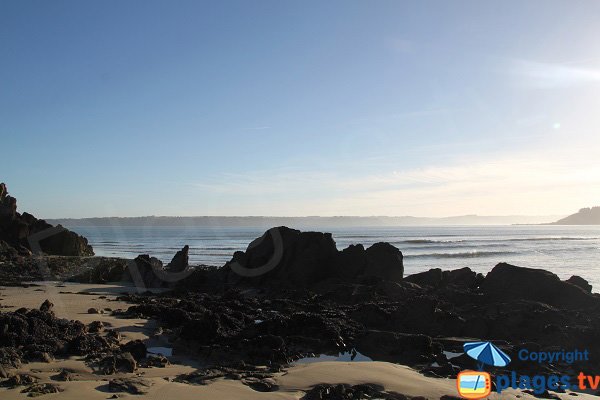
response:
M400 250L389 243L338 251L330 233L278 227L254 240L245 252L236 252L224 273L228 283L307 287L328 279L399 282L404 265Z

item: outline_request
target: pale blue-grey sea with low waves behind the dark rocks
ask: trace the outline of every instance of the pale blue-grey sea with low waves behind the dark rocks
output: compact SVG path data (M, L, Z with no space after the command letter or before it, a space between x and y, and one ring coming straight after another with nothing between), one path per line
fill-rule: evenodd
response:
M69 226L88 238L97 255L150 254L169 262L190 246L192 264L221 266L265 228ZM302 227L303 230L310 228ZM600 291L600 226L403 226L317 228L337 247L385 241L404 254L405 274L430 268L470 267L486 273L499 262L543 268L563 279L581 275Z

